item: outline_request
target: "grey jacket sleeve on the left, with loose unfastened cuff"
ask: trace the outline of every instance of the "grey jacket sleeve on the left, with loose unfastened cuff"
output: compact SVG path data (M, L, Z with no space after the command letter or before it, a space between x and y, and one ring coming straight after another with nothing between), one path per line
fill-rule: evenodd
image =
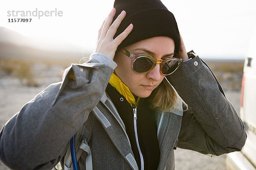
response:
M26 103L0 131L3 163L15 170L54 167L101 99L115 67L104 54L92 54L89 62L72 64L62 82Z

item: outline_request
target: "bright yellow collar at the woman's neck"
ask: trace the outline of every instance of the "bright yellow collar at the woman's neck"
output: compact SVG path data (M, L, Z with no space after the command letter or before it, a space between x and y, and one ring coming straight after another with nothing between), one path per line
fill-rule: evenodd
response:
M116 76L116 74L112 74L109 83L116 88L116 90L125 97L125 99L129 102L129 104L138 106L140 97L135 101L134 95L131 93L130 89L122 82L122 80Z

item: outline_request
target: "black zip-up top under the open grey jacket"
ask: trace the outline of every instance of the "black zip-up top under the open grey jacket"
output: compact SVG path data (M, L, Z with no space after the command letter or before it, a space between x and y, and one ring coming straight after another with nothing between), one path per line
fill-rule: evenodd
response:
M112 85L108 84L106 91L125 124L125 130L131 142L131 149L134 153L137 165L139 169L141 169L140 153L137 148L134 133L133 108L125 97L113 88ZM160 158L160 150L157 141L157 125L154 111L148 108L147 98L141 98L137 107L137 133L144 159L144 170L157 170Z

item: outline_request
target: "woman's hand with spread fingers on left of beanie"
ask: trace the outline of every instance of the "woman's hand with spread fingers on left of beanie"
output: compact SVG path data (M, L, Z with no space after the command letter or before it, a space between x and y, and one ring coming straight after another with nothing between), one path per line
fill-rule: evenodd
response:
M102 26L99 29L98 33L98 41L96 44L96 48L94 50L94 53L102 53L108 56L109 58L113 59L115 56L115 52L117 49L117 46L125 40L125 38L130 34L133 25L130 24L125 31L123 31L121 34L119 34L115 39L113 39L114 35L116 34L116 30L119 27L122 20L125 18L125 11L122 11L121 14L116 18L116 20L113 22L113 17L116 14L116 9L113 8L108 14L108 17L104 20L102 23Z

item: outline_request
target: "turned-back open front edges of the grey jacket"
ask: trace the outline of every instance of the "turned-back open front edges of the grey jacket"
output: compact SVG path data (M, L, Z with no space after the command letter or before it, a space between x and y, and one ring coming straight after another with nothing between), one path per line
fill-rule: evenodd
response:
M122 120L115 113L115 108L111 104L111 102L111 99L106 94L102 96L101 102L99 102L99 104L97 105L99 111L102 113L102 116L96 115L96 118L99 119L99 122L101 123L103 122L102 117L108 120L110 124L108 127L106 127L102 123L103 127L105 127L105 131L108 133L108 136L113 141L113 144L116 146L116 149L119 150L124 159L126 159L128 163L131 165L131 167L135 170L138 167L131 150L130 141L126 134ZM179 102L182 104L181 101ZM177 143L177 137L180 132L181 120L182 114L180 113L180 111L174 111L172 113L163 113L162 123L161 126L159 127L160 130L158 142L160 148L160 162L157 170L165 169L168 162L173 161L169 159L171 153L173 152L175 143Z

